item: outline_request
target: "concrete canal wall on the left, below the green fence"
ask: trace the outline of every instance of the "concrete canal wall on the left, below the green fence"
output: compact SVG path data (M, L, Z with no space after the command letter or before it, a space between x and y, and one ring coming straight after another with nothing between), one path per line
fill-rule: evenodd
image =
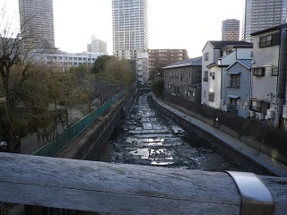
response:
M65 159L98 159L118 122L126 116L128 110L133 106L136 96L137 90L135 89L126 92L123 98L118 99L106 113L97 119L97 124L83 136L81 141L77 142L74 149L65 156Z

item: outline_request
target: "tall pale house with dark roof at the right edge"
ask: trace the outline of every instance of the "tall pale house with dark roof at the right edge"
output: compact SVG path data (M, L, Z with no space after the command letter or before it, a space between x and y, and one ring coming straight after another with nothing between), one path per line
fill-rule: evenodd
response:
M254 40L250 116L287 130L287 24L251 34ZM254 111L255 114L252 112Z

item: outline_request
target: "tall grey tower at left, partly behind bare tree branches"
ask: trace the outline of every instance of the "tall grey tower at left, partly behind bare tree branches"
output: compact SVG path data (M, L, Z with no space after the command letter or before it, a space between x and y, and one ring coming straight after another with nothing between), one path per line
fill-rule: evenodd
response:
M19 14L26 47L55 47L53 0L19 0Z

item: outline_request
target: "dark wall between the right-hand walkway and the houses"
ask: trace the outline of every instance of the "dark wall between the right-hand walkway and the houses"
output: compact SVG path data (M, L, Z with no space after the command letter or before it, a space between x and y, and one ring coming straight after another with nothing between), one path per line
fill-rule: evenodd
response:
M163 93L161 99L189 116L227 133L257 150L258 153L287 165L287 133L256 119L245 119L219 109Z

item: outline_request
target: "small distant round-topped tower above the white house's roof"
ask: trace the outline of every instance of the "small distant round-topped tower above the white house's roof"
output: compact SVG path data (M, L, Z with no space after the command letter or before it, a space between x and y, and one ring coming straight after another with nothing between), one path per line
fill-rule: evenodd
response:
M240 31L240 22L235 19L222 21L222 40L238 41Z

